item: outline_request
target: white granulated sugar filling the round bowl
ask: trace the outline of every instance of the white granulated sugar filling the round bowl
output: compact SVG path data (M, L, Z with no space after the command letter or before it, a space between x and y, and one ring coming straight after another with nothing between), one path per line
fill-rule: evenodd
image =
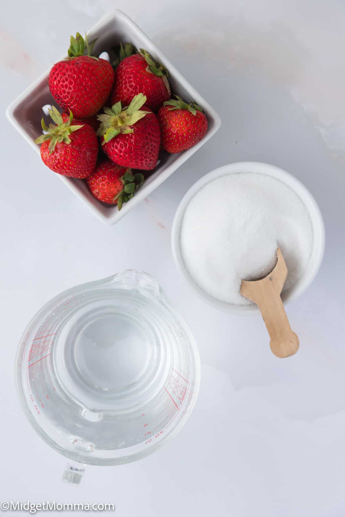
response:
M214 298L249 305L242 280L267 275L280 247L288 267L283 291L305 271L313 245L302 200L282 181L257 173L221 176L190 200L181 252L192 279Z

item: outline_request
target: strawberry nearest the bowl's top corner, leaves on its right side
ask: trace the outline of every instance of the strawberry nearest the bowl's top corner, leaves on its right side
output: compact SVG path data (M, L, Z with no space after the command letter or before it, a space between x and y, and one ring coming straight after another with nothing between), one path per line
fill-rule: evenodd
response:
M121 63L116 68L114 89L111 94L111 104L121 101L125 106L139 93L146 95L146 105L152 111L157 111L164 100L170 98L170 86L167 79L168 70L144 49L139 54L128 55L131 47L121 45ZM126 56L127 57L124 57Z

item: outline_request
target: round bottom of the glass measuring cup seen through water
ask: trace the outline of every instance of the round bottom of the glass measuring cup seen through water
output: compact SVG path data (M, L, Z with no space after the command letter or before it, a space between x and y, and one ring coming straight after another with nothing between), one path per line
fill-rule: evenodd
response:
M55 338L53 361L66 393L88 408L122 413L155 397L171 367L164 310L117 290L85 294Z

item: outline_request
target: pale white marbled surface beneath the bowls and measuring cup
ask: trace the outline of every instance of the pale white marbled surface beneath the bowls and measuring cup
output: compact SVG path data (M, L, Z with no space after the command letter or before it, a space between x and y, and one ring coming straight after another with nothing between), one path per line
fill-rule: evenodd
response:
M2 119L0 500L111 502L116 514L345 514L345 5L341 0L4 2L0 103L7 104L103 14L122 8L213 105L212 140L116 226L102 225ZM279 360L260 316L228 316L189 290L170 251L176 207L225 163L266 161L310 189L326 225L322 268L288 306L301 347ZM13 367L21 333L62 290L125 268L151 273L190 325L202 383L171 443L141 462L86 467L30 427Z

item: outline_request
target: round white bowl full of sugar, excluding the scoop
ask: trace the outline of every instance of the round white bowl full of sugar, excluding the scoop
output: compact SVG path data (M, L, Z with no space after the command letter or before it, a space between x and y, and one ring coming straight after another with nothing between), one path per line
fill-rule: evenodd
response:
M242 280L263 278L280 247L288 267L285 303L301 295L321 266L325 232L308 189L274 165L223 165L197 181L172 226L177 267L206 303L231 313L259 312L239 292Z

